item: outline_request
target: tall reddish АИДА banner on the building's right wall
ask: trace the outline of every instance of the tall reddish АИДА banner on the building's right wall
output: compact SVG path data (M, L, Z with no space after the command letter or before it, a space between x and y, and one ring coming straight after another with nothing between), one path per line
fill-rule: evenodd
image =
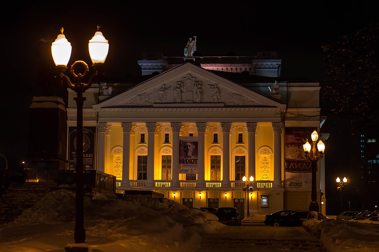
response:
M317 128L285 128L285 189L286 191L310 192L312 167L307 161L303 144L311 139ZM311 143L312 144L312 143Z

